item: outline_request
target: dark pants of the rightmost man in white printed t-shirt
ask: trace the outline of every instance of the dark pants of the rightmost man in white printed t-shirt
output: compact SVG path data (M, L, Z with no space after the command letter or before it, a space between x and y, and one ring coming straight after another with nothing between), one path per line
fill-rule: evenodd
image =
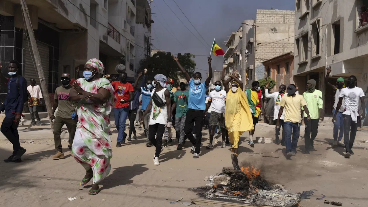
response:
M357 134L358 123L360 120L360 116L357 117L358 122L355 123L350 115L343 114L344 118L344 144L345 150L348 152L353 148L355 135ZM350 130L350 138L349 138L349 130Z

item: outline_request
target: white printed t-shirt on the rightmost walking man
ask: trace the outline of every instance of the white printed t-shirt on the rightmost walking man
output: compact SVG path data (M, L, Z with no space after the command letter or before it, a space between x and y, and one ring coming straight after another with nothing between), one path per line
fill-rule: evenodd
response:
M343 114L351 115L352 111L355 111L356 116L359 116L359 99L360 97L364 97L364 92L362 88L354 87L354 88L343 88L340 92L340 97L343 97L343 102L345 104L345 111Z

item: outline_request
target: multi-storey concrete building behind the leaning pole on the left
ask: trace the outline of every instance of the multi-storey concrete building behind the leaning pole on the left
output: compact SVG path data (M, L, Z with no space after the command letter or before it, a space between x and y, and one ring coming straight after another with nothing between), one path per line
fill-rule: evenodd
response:
M102 61L105 74L115 74L115 66L125 64L130 69L128 76L134 75L135 0L35 0L27 4L49 93L61 84L61 73L75 78L79 67L82 76L84 64L91 58ZM0 14L1 64L7 66L16 59L21 63L18 73L28 81L36 78L39 84L20 2L2 1ZM2 74L8 77L6 71ZM4 89L3 84L2 100ZM53 99L53 95L50 97Z

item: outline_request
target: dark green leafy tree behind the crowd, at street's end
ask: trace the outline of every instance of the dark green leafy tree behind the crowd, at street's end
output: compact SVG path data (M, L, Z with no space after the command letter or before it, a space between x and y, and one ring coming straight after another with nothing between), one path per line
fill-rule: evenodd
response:
M178 59L181 66L188 72L190 76L194 74L196 63L192 58L195 58L191 53L178 53ZM155 53L152 57L146 56L144 59L139 61L139 70L143 71L147 69L147 76L149 80L153 80L156 74L163 74L168 78L172 78L174 80L174 86L179 85L179 81L181 78L184 78L184 74L178 68L177 63L174 61L170 52L158 52Z

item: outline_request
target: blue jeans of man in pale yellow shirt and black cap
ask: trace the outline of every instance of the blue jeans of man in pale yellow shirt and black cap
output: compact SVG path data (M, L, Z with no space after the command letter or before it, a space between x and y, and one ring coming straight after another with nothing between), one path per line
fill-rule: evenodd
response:
M284 122L283 130L285 131L286 153L296 151L299 140L300 123ZM293 133L293 140L291 140L291 133Z

